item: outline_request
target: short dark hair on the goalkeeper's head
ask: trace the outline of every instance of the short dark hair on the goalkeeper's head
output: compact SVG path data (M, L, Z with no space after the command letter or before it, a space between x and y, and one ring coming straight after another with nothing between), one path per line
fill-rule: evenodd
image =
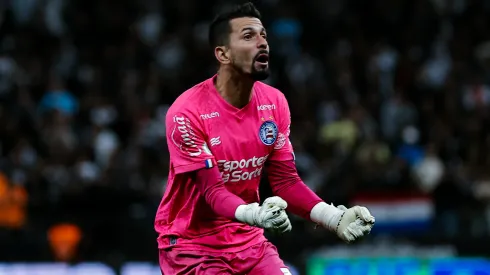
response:
M209 27L209 44L211 47L228 45L231 32L230 21L242 17L261 19L260 12L251 2L235 5L219 13Z

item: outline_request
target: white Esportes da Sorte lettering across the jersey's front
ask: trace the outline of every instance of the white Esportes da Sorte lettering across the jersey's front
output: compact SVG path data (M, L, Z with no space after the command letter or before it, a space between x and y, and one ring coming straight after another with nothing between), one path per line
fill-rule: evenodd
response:
M251 180L262 175L262 168L269 155L241 160L218 160L224 182Z

